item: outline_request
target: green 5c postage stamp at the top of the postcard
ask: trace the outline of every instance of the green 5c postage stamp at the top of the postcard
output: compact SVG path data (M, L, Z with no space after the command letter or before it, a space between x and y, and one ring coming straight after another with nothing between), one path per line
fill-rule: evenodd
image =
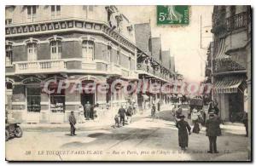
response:
M189 5L158 5L157 25L189 25Z

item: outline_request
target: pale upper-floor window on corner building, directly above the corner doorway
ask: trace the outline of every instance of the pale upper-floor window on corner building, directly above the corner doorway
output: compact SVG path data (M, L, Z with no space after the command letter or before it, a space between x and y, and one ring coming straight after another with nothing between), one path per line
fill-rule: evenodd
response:
M84 40L82 43L82 57L84 61L94 60L94 42Z

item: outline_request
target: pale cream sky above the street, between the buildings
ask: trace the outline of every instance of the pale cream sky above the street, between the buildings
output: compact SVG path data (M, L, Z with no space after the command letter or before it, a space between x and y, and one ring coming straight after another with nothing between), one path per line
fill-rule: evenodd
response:
M183 74L186 80L200 82L204 79L207 46L212 41L213 6L191 6L189 26L177 27L156 25L156 6L118 8L131 24L150 20L152 36L161 37L162 50L170 49L177 72Z

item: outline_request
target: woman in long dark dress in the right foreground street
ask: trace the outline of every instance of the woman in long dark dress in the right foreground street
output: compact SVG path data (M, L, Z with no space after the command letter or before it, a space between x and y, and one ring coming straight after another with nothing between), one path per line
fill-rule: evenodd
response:
M191 135L191 128L189 123L184 121L184 115L180 115L179 118L180 121L176 123L176 127L178 129L178 146L180 146L182 150L186 150L186 147L189 145L189 135Z

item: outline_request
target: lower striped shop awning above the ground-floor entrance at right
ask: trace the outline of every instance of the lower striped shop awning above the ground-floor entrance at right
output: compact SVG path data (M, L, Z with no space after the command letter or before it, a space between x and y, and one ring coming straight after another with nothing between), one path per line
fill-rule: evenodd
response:
M217 94L231 94L243 92L247 88L246 78L244 77L225 77L214 83L213 89Z

